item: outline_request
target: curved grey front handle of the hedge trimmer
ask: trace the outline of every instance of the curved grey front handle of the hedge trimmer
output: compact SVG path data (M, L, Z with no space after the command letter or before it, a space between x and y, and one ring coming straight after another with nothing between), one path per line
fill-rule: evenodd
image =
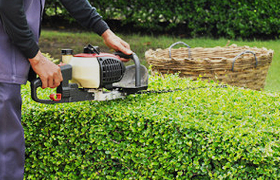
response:
M141 86L141 79L140 79L140 60L138 56L135 53L132 53L131 55L126 55L123 52L117 51L114 53L117 56L120 56L121 58L125 59L132 59L135 64L135 87Z

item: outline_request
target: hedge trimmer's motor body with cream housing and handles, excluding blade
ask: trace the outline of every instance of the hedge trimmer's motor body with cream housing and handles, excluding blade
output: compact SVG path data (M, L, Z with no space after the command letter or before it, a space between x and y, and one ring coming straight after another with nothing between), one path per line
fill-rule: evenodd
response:
M86 100L106 101L124 98L148 88L148 71L135 53L125 55L100 53L99 48L88 45L84 53L72 55L72 50L62 50L62 83L50 99L39 99L37 89L42 86L40 78L31 82L34 101L54 104ZM120 58L132 59L134 65L125 66Z

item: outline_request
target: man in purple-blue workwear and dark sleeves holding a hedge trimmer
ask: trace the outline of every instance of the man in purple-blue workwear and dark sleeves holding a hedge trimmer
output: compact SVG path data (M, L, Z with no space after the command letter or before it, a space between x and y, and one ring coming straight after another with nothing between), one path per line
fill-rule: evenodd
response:
M87 0L60 1L83 26L102 36L105 44L132 53ZM44 4L45 0L0 0L0 180L23 179L20 85L26 83L30 65L42 80L42 88L57 87L62 81L60 68L38 46Z

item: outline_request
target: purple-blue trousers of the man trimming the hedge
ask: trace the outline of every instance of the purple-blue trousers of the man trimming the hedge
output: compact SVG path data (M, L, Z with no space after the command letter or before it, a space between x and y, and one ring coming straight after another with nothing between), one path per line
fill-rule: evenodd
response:
M19 84L0 82L0 180L22 180L25 143Z

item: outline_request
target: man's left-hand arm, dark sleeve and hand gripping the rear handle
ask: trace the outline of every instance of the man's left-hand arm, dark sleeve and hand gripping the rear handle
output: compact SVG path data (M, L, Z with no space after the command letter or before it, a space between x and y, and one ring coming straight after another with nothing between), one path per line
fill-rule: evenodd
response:
M28 58L33 70L39 75L42 88L59 86L62 81L60 68L39 51L27 23L23 0L0 0L0 19L11 42Z

